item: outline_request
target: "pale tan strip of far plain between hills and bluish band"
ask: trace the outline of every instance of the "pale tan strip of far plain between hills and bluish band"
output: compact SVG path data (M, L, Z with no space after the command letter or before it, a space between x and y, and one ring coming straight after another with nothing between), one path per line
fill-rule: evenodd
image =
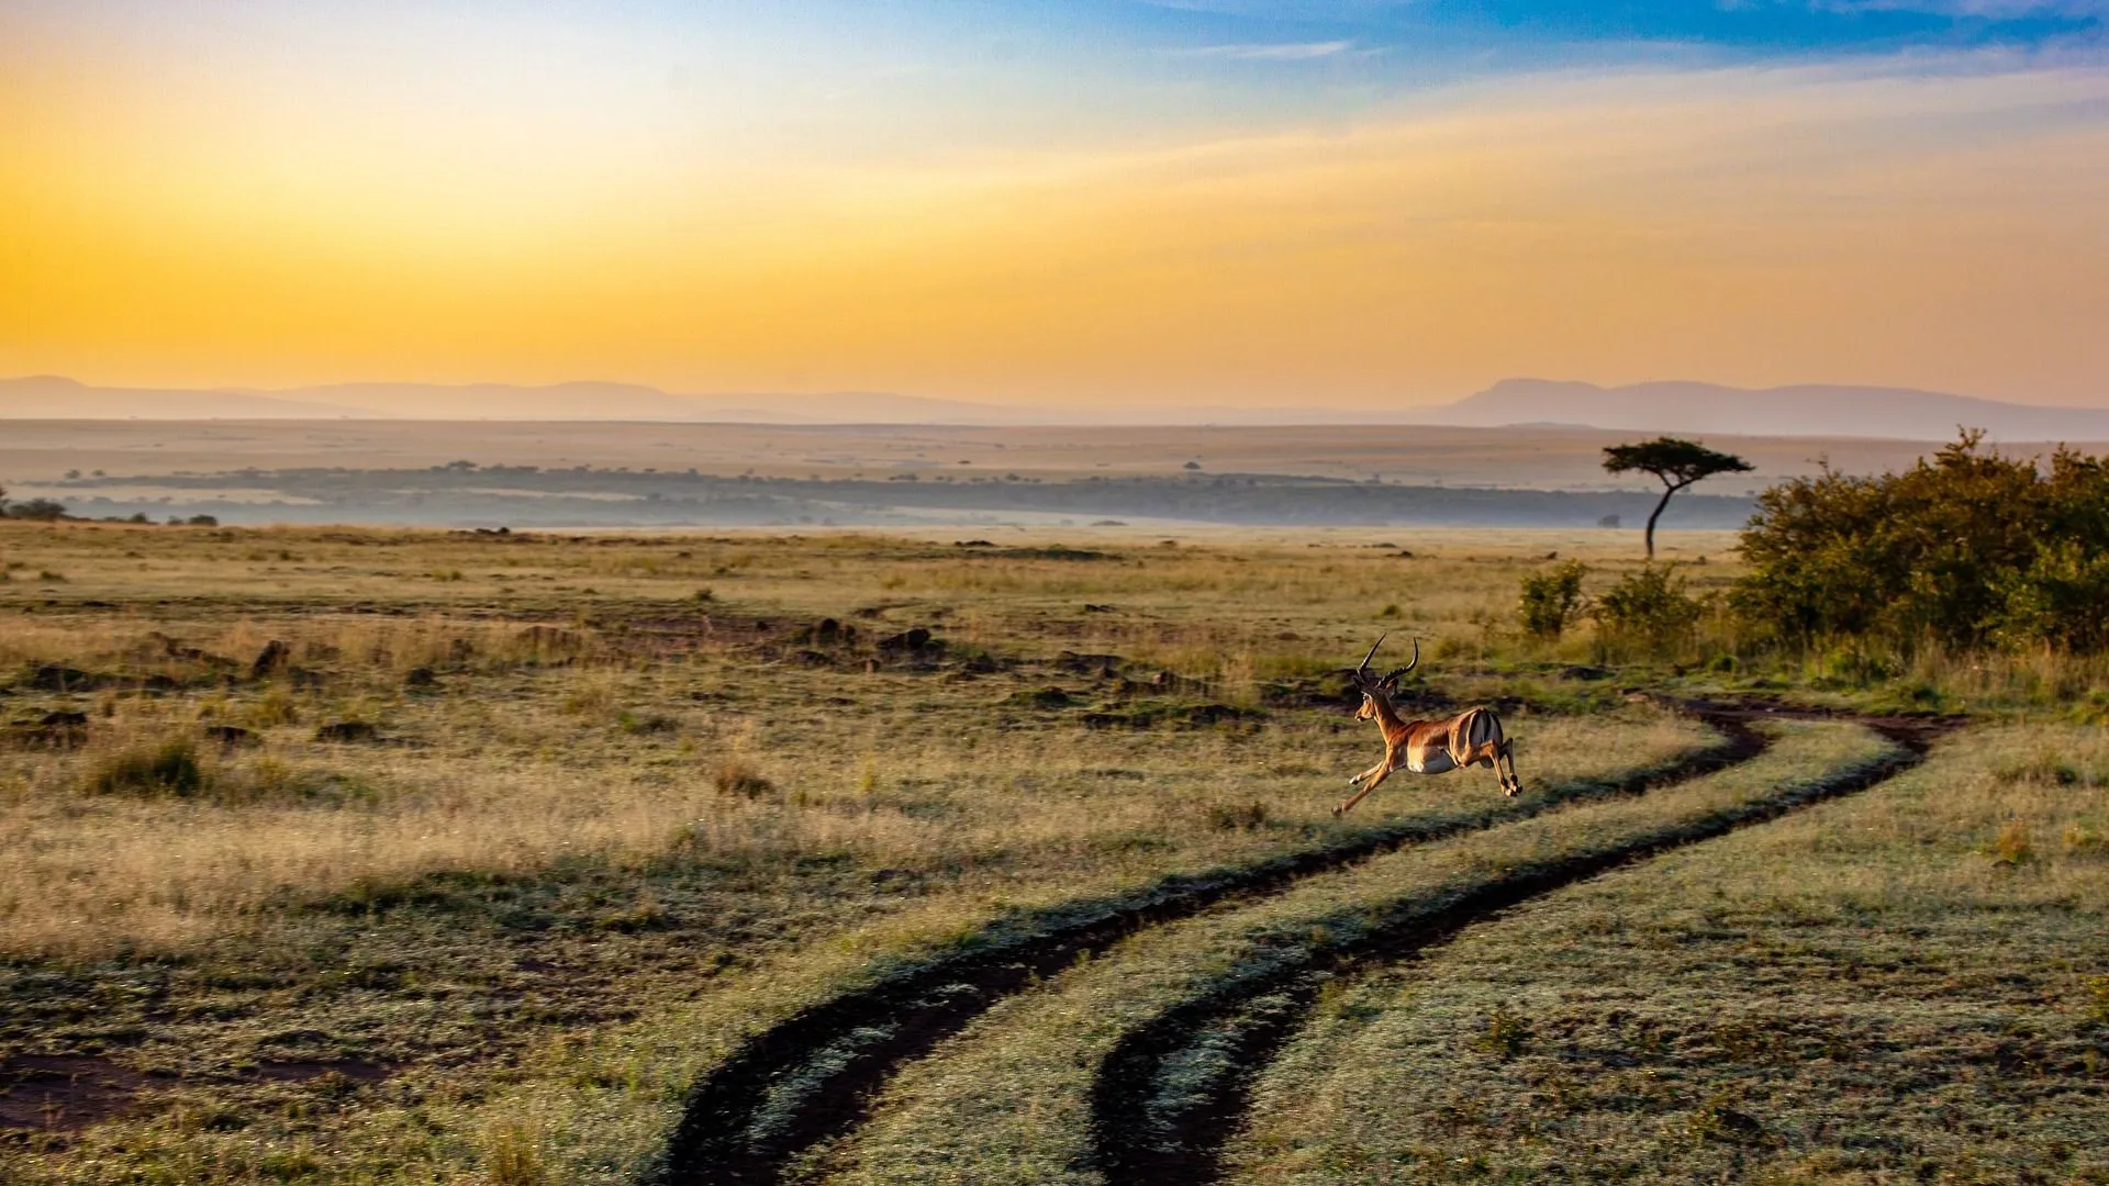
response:
M1603 445L1630 433L1599 428L1447 428L1398 426L1211 426L1211 428L964 428L964 426L774 426L774 424L622 424L591 422L127 422L15 420L0 468L21 490L65 500L65 487L40 485L65 471L137 475L141 456L158 473L219 473L230 466L424 468L468 458L483 464L700 466L704 473L782 477L852 473L888 475L903 466L926 477L955 475L1105 475L1181 473L1202 437L1211 473L1308 473L1367 479L1449 481L1451 485L1542 485L1588 490L1613 485L1603 473ZM1774 475L1812 473L1829 456L1845 473L1907 468L1930 452L1915 441L1843 437L1708 437L1717 447L1759 464L1750 485ZM152 449L152 454L148 454ZM1518 464L1518 458L1529 458ZM970 466L960 466L970 460ZM133 483L129 483L133 485ZM167 494L154 477L135 483L141 496ZM1630 487L1630 483L1626 483ZM1731 485L1744 490L1746 485ZM247 492L255 496L255 492Z

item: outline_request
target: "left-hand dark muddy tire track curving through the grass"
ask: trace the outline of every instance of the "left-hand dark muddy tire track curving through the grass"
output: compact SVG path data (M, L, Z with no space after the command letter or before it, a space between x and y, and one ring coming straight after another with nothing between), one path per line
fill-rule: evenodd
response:
M1400 821L1238 869L1166 878L1084 918L1063 918L1076 914L1073 907L1050 912L1061 920L801 1009L742 1042L696 1083L666 1156L647 1182L715 1186L782 1180L801 1152L860 1125L869 1097L901 1066L928 1055L998 1000L1137 931L1274 895L1314 874L1407 844L1483 831L1578 800L1639 796L1713 774L1757 758L1769 745L1744 713L1713 705L1689 711L1721 732L1721 741L1675 762L1613 781L1567 783L1472 819Z

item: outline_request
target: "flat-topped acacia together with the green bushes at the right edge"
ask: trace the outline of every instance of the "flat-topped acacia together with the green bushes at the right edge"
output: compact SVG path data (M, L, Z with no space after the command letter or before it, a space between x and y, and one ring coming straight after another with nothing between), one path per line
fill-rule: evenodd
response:
M1742 458L1670 437L1605 449L1605 468L1664 481L1662 504ZM2050 464L1999 454L1963 431L1902 473L1822 466L1757 496L1742 530L1746 572L1725 597L1691 597L1672 568L1628 574L1584 604L1586 568L1523 580L1525 633L1559 637L1592 614L1599 635L1662 648L1708 614L1744 644L1833 642L1980 650L2109 650L2109 458L2060 445Z

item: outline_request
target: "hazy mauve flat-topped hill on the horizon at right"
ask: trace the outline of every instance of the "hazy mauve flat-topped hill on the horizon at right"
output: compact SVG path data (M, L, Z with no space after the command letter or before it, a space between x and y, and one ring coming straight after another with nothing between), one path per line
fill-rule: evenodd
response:
M2109 441L2109 409L2031 407L1898 386L1774 386L1746 390L1706 382L1597 386L1502 380L1419 416L1428 424L1586 424L1634 433L1738 437L1890 437L1947 441L1957 424L2006 441Z

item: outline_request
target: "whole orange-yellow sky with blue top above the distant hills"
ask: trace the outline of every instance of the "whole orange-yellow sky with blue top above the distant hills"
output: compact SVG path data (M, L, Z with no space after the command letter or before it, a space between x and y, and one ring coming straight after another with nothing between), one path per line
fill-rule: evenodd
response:
M2109 405L2109 0L0 2L0 376Z

